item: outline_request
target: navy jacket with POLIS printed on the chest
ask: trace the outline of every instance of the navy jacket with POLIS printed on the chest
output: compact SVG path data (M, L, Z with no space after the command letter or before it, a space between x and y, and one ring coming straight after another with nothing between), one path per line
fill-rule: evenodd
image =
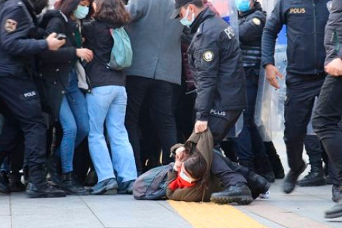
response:
M330 0L279 0L262 37L262 65L274 65L279 31L287 26L287 71L302 75L324 72L324 28Z

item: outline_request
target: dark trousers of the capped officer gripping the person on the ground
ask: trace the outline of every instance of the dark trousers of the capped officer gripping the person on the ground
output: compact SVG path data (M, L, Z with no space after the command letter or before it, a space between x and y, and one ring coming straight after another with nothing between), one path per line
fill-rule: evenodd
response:
M237 183L247 183L245 177L238 172L238 167L228 165L222 156L219 155L220 144L223 138L228 134L229 130L235 125L239 119L241 111L226 112L225 118L219 116L211 116L209 118L209 129L214 139L213 161L211 164L211 172L220 177L225 188L236 185ZM238 165L240 166L240 165Z

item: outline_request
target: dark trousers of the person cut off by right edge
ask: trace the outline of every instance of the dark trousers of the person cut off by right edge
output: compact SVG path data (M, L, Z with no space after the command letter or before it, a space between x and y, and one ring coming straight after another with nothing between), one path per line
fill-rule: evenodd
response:
M327 76L314 112L313 127L342 183L342 77Z

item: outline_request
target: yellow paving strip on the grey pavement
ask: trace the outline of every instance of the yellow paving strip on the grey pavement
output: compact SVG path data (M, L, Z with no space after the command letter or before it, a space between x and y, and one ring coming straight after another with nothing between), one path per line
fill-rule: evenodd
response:
M267 228L229 205L168 201L194 228Z

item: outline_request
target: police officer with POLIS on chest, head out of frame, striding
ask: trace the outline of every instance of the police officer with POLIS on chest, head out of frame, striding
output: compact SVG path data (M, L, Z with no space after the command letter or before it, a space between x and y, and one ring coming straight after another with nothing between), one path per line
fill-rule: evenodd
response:
M290 172L283 186L286 193L294 190L299 175L305 170L302 158L303 140L311 119L315 97L325 79L324 27L328 20L328 0L279 0L269 17L262 37L262 65L266 78L279 89L277 78L283 76L274 66L277 35L287 26L287 76L285 132ZM317 139L318 140L318 139ZM322 175L323 175L323 171Z

